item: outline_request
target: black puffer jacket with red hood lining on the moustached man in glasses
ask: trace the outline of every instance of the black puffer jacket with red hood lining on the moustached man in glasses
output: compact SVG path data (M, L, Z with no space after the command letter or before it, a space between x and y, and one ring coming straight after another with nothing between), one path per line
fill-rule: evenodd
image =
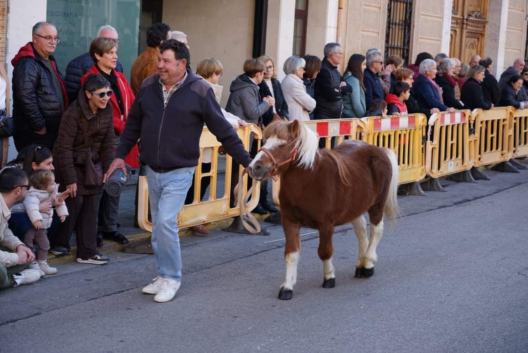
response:
M53 56L50 56L50 61L56 70ZM46 135L56 137L62 113L68 106L66 87L59 70L51 72L31 42L21 47L11 63L14 66L14 135L46 127ZM53 89L51 75L54 74L59 77L63 99Z

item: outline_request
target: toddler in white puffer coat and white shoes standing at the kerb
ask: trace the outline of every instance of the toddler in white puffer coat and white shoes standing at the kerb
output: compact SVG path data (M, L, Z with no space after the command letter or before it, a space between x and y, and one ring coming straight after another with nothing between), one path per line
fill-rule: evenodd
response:
M53 209L49 212L39 211L39 205L42 201L56 201L59 196L59 184L55 183L55 176L50 170L35 170L29 177L31 188L24 198L24 208L27 216L30 218L33 227L24 235L24 243L30 249L33 249L33 243L39 244L39 251L36 253L36 263L30 265L31 268L39 269L44 274L55 274L56 268L48 265L48 251L50 250L50 241L48 240L48 228L51 226L53 219ZM64 222L68 216L68 208L62 202L55 209L61 222Z

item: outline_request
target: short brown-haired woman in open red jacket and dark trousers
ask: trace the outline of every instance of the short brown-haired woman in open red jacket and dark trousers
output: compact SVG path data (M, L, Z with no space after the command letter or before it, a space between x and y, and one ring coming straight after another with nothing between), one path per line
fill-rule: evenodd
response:
M90 44L90 55L95 64L83 75L81 84L90 74L102 75L110 82L112 95L110 104L114 115L114 131L119 137L125 129L125 122L128 119L128 112L134 102L134 93L125 78L125 75L116 71L117 64L117 43L116 41L97 37ZM125 158L125 163L132 168L139 168L137 145ZM110 239L121 244L129 243L126 236L117 230L117 214L119 207L119 197L110 196L104 190L100 190L101 203L99 206L99 227L101 235L97 237L97 246L102 246L102 238Z

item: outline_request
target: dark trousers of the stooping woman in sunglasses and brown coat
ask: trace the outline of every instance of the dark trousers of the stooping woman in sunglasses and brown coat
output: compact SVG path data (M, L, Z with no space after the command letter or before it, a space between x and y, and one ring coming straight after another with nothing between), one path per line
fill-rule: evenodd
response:
M70 215L66 221L59 224L53 237L54 246L64 246L70 249L70 238L76 231L77 257L90 257L97 253L97 211L99 207L98 195L77 195L68 197L66 206Z

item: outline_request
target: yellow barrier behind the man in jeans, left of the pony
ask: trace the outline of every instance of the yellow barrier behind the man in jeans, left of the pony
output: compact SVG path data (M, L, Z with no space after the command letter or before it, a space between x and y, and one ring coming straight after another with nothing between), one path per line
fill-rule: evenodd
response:
M244 148L247 151L251 148L251 141L254 139L262 139L262 131L256 125L248 125L245 128L238 129L238 136L243 142ZM185 205L178 215L178 227L186 228L203 223L223 220L224 218L231 218L240 214L239 207L230 207L231 197L231 175L232 175L232 158L226 155L225 158L225 178L222 195L216 195L216 186L219 182L219 168L218 168L218 148L221 146L216 137L206 128L203 129L200 137L200 152L202 154L204 148L212 148L211 171L209 173L202 173L202 155L196 166L194 175L194 201L190 205ZM242 168L239 170L239 177L242 174ZM201 178L211 178L209 187L209 198L200 201L200 180ZM239 178L237 178L238 180ZM243 179L244 190L247 190L248 178L247 175ZM260 183L260 182L259 182ZM138 224L148 232L152 232L152 223L148 221L148 184L147 177L140 176L139 197L138 197ZM256 187L251 195L251 201L248 209L253 209L259 202L259 187Z

